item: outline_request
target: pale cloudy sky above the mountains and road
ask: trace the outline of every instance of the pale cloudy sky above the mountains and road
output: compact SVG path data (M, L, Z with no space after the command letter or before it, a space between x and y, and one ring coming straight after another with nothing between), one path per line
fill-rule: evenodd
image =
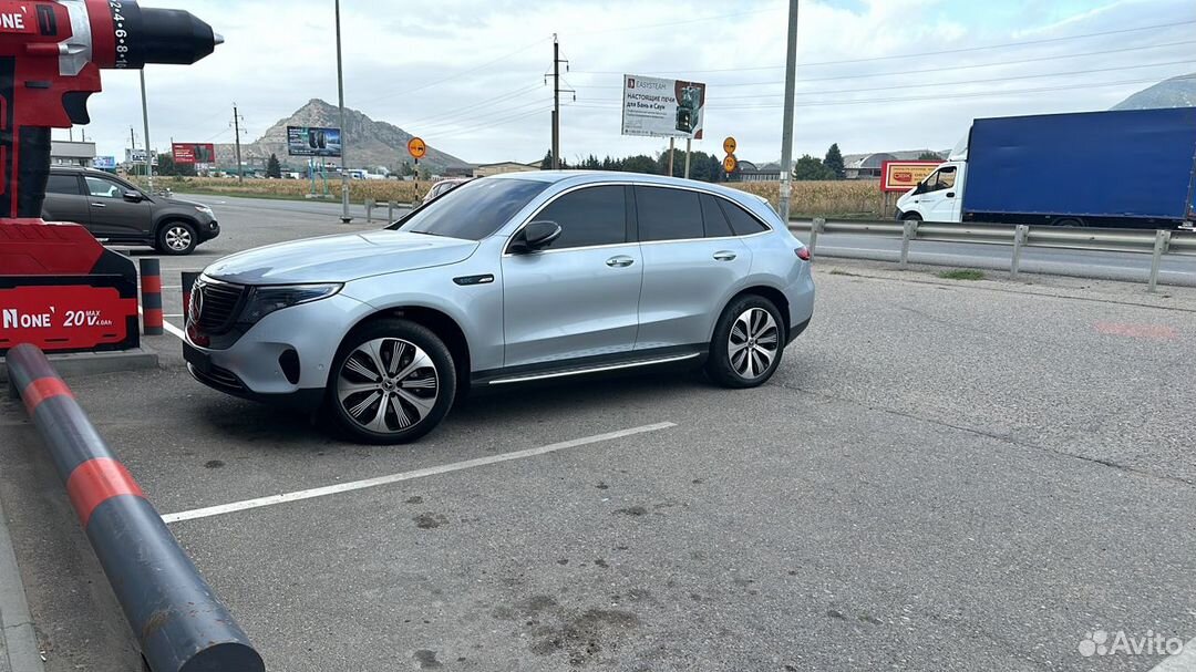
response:
M336 102L332 0L146 0L227 42L190 67L151 66L151 140L248 139L311 98ZM983 116L1103 110L1196 72L1192 0L801 0L794 153L946 148ZM654 153L620 136L621 73L708 84L706 138L780 157L786 0L343 0L346 104L469 161L539 159L550 143L551 36L569 60L562 154ZM684 8L684 11L679 11ZM106 72L87 139L122 155L138 75ZM55 132L56 138L67 133ZM75 138L78 139L78 129ZM352 138L349 139L352 143ZM349 147L352 152L352 145Z

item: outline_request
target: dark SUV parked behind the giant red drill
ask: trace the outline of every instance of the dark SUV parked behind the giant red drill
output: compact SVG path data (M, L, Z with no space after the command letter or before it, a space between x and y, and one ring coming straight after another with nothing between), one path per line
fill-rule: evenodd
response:
M98 170L50 166L42 218L73 221L111 245L150 245L164 255L189 255L220 234L212 208L150 196Z

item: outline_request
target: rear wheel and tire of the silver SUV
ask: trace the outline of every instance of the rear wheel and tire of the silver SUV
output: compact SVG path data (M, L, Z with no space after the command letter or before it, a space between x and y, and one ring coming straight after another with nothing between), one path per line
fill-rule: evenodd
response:
M781 364L785 335L785 320L773 301L740 297L719 318L706 372L724 387L763 385Z

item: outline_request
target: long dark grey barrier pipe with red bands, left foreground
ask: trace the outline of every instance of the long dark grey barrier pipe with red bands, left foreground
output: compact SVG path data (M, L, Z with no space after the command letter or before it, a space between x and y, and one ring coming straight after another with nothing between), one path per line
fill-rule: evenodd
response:
M264 672L262 656L213 594L141 487L87 420L45 354L7 354L79 524L153 672Z

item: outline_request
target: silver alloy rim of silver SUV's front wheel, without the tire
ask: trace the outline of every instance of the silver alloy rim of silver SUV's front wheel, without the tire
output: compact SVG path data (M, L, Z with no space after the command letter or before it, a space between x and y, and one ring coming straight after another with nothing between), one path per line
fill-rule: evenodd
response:
M374 338L344 359L336 397L344 414L364 429L393 434L432 413L440 378L432 358L402 338Z

